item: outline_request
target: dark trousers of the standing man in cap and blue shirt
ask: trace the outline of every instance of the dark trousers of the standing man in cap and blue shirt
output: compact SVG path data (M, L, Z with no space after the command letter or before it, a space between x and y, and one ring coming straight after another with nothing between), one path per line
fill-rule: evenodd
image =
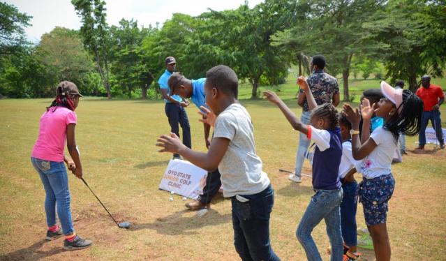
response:
M181 107L175 103L166 103L165 116L167 116L169 119L170 132L175 133L178 137L180 137L178 127L179 124L183 129L183 144L188 148L192 148L191 126L189 125L189 120L184 107Z

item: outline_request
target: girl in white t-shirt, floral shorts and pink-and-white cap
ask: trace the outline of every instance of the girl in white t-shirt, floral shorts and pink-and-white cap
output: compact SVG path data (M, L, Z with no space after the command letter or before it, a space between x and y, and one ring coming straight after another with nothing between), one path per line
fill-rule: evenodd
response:
M395 187L390 166L400 133L416 135L421 125L423 102L409 90L394 89L381 82L385 98L370 105L364 99L361 112L350 105L343 106L343 114L352 124L352 154L362 160L364 179L359 184L359 200L364 209L364 218L373 240L376 260L390 260L390 244L387 234L387 202ZM384 119L384 126L370 134L370 119L376 114ZM359 140L359 121L362 119L362 137ZM365 127L364 127L365 126Z

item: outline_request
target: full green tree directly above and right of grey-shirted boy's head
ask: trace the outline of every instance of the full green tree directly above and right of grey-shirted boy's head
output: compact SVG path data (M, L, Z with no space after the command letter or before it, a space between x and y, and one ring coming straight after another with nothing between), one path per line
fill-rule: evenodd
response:
M290 7L291 6L291 7ZM271 36L292 24L294 16L283 15L292 8L292 1L267 0L253 9L246 4L236 10L212 11L202 16L211 19L219 40L221 55L241 79L252 84L251 98L258 96L260 79L278 84L289 66L280 47L271 45ZM243 36L243 37L241 37Z

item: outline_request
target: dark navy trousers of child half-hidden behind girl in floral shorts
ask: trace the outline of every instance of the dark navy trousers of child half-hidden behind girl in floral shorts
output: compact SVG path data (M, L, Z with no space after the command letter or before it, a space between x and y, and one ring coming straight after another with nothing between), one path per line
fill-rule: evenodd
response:
M347 246L356 246L356 209L357 191L356 181L342 184L344 193L341 203L341 231L344 242Z

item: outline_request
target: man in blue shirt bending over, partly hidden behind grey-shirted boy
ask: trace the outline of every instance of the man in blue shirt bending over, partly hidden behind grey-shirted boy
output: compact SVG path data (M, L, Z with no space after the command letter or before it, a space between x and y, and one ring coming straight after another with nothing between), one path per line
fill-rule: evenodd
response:
M206 95L205 95L205 82L206 78L200 78L198 80L189 80L184 77L180 73L173 73L170 76L168 85L172 94L179 95L181 98L188 99L190 98L201 110L201 106L207 107L206 103ZM205 130L205 142L206 147L209 149L209 145L211 144L209 141L209 130L211 126L209 124L204 124ZM193 202L186 203L186 207L191 210L203 209L205 207L209 207L211 204L212 198L218 192L218 189L221 187L220 180L220 172L214 170L214 172L209 172L206 177L206 186L203 188L203 193L200 195L198 200L194 200Z

